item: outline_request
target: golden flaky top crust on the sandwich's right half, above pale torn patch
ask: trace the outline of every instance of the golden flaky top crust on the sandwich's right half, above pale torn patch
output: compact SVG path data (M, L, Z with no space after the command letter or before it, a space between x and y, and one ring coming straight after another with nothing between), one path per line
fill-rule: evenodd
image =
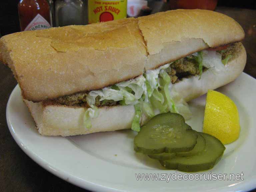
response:
M138 18L139 28L150 55L159 53L166 43L186 38L202 39L209 47L241 41L242 27L231 17L209 10L171 10Z

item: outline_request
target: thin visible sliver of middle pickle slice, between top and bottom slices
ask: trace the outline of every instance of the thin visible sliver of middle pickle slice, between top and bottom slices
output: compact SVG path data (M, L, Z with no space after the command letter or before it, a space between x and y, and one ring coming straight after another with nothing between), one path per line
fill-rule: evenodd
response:
M178 157L190 157L193 155L198 154L199 152L203 151L205 148L205 138L198 132L196 132L198 137L197 137L197 142L195 147L188 152L178 152L178 153L160 153L160 154L149 154L148 156L152 159L159 159L159 160L168 160L172 159L176 156Z

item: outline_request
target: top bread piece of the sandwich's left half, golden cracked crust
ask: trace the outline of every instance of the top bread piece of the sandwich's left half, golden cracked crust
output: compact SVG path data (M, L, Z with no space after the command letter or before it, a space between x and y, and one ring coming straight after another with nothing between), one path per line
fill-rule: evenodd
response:
M146 48L137 20L25 31L0 39L9 65L31 101L96 90L143 74Z

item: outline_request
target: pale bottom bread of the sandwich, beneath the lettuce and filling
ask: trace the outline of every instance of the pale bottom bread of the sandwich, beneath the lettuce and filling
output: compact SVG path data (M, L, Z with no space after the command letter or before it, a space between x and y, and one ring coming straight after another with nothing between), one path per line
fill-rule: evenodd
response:
M198 76L184 78L174 84L176 91L186 101L205 94L208 89L216 89L233 81L243 71L246 63L246 52L243 46L238 57L227 64L227 70L213 72L207 70L202 77ZM42 102L34 103L24 100L27 104L39 133L42 135L79 135L99 131L114 131L131 128L135 115L133 105L113 106L99 108L99 116L91 120L92 128L86 129L83 124L83 115L86 108L69 107L61 105L42 105ZM147 121L143 116L141 124Z

